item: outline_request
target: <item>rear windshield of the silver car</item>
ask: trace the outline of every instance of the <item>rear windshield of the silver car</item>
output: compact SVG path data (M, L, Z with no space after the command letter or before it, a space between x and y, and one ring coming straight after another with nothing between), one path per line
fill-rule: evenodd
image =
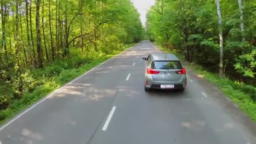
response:
M153 61L152 69L182 69L179 61Z

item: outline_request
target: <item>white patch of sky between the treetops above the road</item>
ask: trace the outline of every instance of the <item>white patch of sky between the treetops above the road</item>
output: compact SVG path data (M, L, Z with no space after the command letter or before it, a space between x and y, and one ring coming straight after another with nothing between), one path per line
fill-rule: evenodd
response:
M155 0L131 0L141 14L141 22L145 26L147 10L155 3Z

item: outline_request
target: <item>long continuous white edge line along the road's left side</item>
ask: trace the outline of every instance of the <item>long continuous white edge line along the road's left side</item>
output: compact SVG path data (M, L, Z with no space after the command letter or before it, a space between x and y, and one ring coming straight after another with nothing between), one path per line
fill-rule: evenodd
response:
M134 45L135 46L135 45ZM134 46L132 46L131 48L133 48ZM126 49L125 51L128 51L130 48ZM125 52L123 51L123 52ZM122 54L118 53L117 55L113 56L112 58L108 59L107 61L114 59L116 56ZM42 103L43 101L45 101L46 99L48 99L49 97L53 96L54 94L58 93L59 91L61 91L63 88L65 88L67 85L75 82L76 80L80 79L81 77L83 77L84 75L88 74L89 72L93 71L94 69L100 67L102 64L105 64L107 61L102 62L101 64L99 64L98 66L92 68L91 70L85 72L83 75L81 75L80 77L77 77L75 80L72 80L71 82L67 83L66 85L63 85L61 88L56 89L55 91L53 91L52 93L50 93L48 96L46 96L45 98L43 98L42 100L38 101L37 103L35 103L32 107L29 107L28 109L26 109L24 112L22 112L21 114L17 115L16 117L14 117L13 119L11 119L10 121L8 121L8 123L4 124L2 127L0 127L0 131L2 131L5 127L7 127L8 125L10 125L11 123L13 123L15 120L17 120L19 117L21 117L22 115L26 114L29 110L33 109L35 106L37 106L38 104Z

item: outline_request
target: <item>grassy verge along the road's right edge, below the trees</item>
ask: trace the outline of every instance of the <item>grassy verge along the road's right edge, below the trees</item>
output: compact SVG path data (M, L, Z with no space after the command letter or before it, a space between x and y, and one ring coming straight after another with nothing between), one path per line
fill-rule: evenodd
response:
M157 44L156 44L157 45ZM176 54L182 61L184 56L175 50L170 50L159 46L161 51ZM187 62L187 61L186 61ZM235 102L252 120L256 121L256 88L252 85L246 85L231 80L228 77L219 77L218 74L204 69L202 66L190 63L189 67L194 69L198 74L216 85L227 97Z

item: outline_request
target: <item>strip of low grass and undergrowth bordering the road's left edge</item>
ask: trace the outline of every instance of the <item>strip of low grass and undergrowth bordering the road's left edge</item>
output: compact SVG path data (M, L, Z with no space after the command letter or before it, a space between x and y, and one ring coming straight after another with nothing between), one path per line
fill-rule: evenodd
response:
M73 61L56 61L55 63L53 62L53 64L50 64L44 69L34 69L32 72L24 74L24 81L28 82L27 87L29 88L27 88L27 91L24 92L21 99L12 100L8 105L7 109L3 109L0 111L0 124L3 124L6 120L9 120L17 113L23 111L24 109L34 104L38 100L42 99L44 96L56 90L57 88L60 88L62 85L69 82L70 80L73 80L74 78L83 75L88 70L96 67L102 62L114 57L116 54L124 51L127 48L130 48L133 45L135 44L125 45L120 51L113 51L111 54L99 56L90 60L80 59L80 61L75 61L76 59L73 59ZM69 63L71 63L70 65L75 64L78 66L69 69ZM34 77L32 77L31 75L37 77L38 80L34 80ZM38 82L39 80L40 82ZM5 85L0 86L3 87ZM3 95L3 93L0 94Z

